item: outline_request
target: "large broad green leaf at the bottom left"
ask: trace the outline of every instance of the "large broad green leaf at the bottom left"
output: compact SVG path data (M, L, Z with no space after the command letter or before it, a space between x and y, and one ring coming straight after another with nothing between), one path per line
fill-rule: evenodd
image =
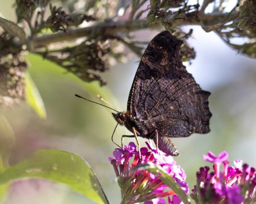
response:
M21 178L61 183L96 203L109 203L95 173L82 157L60 150L37 150L0 174L0 184Z

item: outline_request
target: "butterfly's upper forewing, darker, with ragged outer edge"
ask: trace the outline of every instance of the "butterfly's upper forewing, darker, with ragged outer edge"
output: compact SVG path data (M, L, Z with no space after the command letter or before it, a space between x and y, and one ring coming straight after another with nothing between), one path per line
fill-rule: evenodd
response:
M163 77L168 73L182 72L186 74L179 52L182 41L176 39L168 31L157 34L147 46L132 82L127 110L136 114L136 101L144 94L144 87L151 79ZM175 64L175 66L172 66ZM189 73L187 73L189 74ZM147 84L145 84L145 83Z

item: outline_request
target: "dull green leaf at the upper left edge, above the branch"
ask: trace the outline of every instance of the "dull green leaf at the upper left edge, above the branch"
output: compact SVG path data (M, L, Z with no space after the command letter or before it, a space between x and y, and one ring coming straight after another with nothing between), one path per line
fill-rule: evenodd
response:
M22 43L26 42L26 33L16 23L13 23L12 21L8 21L7 19L0 17L0 26L7 33L10 33L12 36L18 37Z

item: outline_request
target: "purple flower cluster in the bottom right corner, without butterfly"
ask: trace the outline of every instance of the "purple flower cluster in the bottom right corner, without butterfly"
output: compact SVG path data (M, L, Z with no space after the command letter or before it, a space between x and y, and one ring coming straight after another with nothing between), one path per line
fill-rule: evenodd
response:
M191 198L196 203L255 203L256 172L255 168L242 161L234 161L234 167L228 166L228 153L221 152L218 157L208 152L205 161L214 163L213 172L208 166L201 167L196 173L196 185ZM223 165L221 171L221 165Z

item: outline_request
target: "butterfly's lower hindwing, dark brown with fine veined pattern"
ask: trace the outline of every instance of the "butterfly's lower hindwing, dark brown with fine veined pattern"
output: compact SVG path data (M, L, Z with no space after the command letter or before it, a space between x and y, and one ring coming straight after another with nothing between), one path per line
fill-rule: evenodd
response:
M170 137L188 137L191 133L208 133L211 113L210 93L201 90L192 77L168 76L152 79L138 106L144 105L142 118L155 123L157 130Z

